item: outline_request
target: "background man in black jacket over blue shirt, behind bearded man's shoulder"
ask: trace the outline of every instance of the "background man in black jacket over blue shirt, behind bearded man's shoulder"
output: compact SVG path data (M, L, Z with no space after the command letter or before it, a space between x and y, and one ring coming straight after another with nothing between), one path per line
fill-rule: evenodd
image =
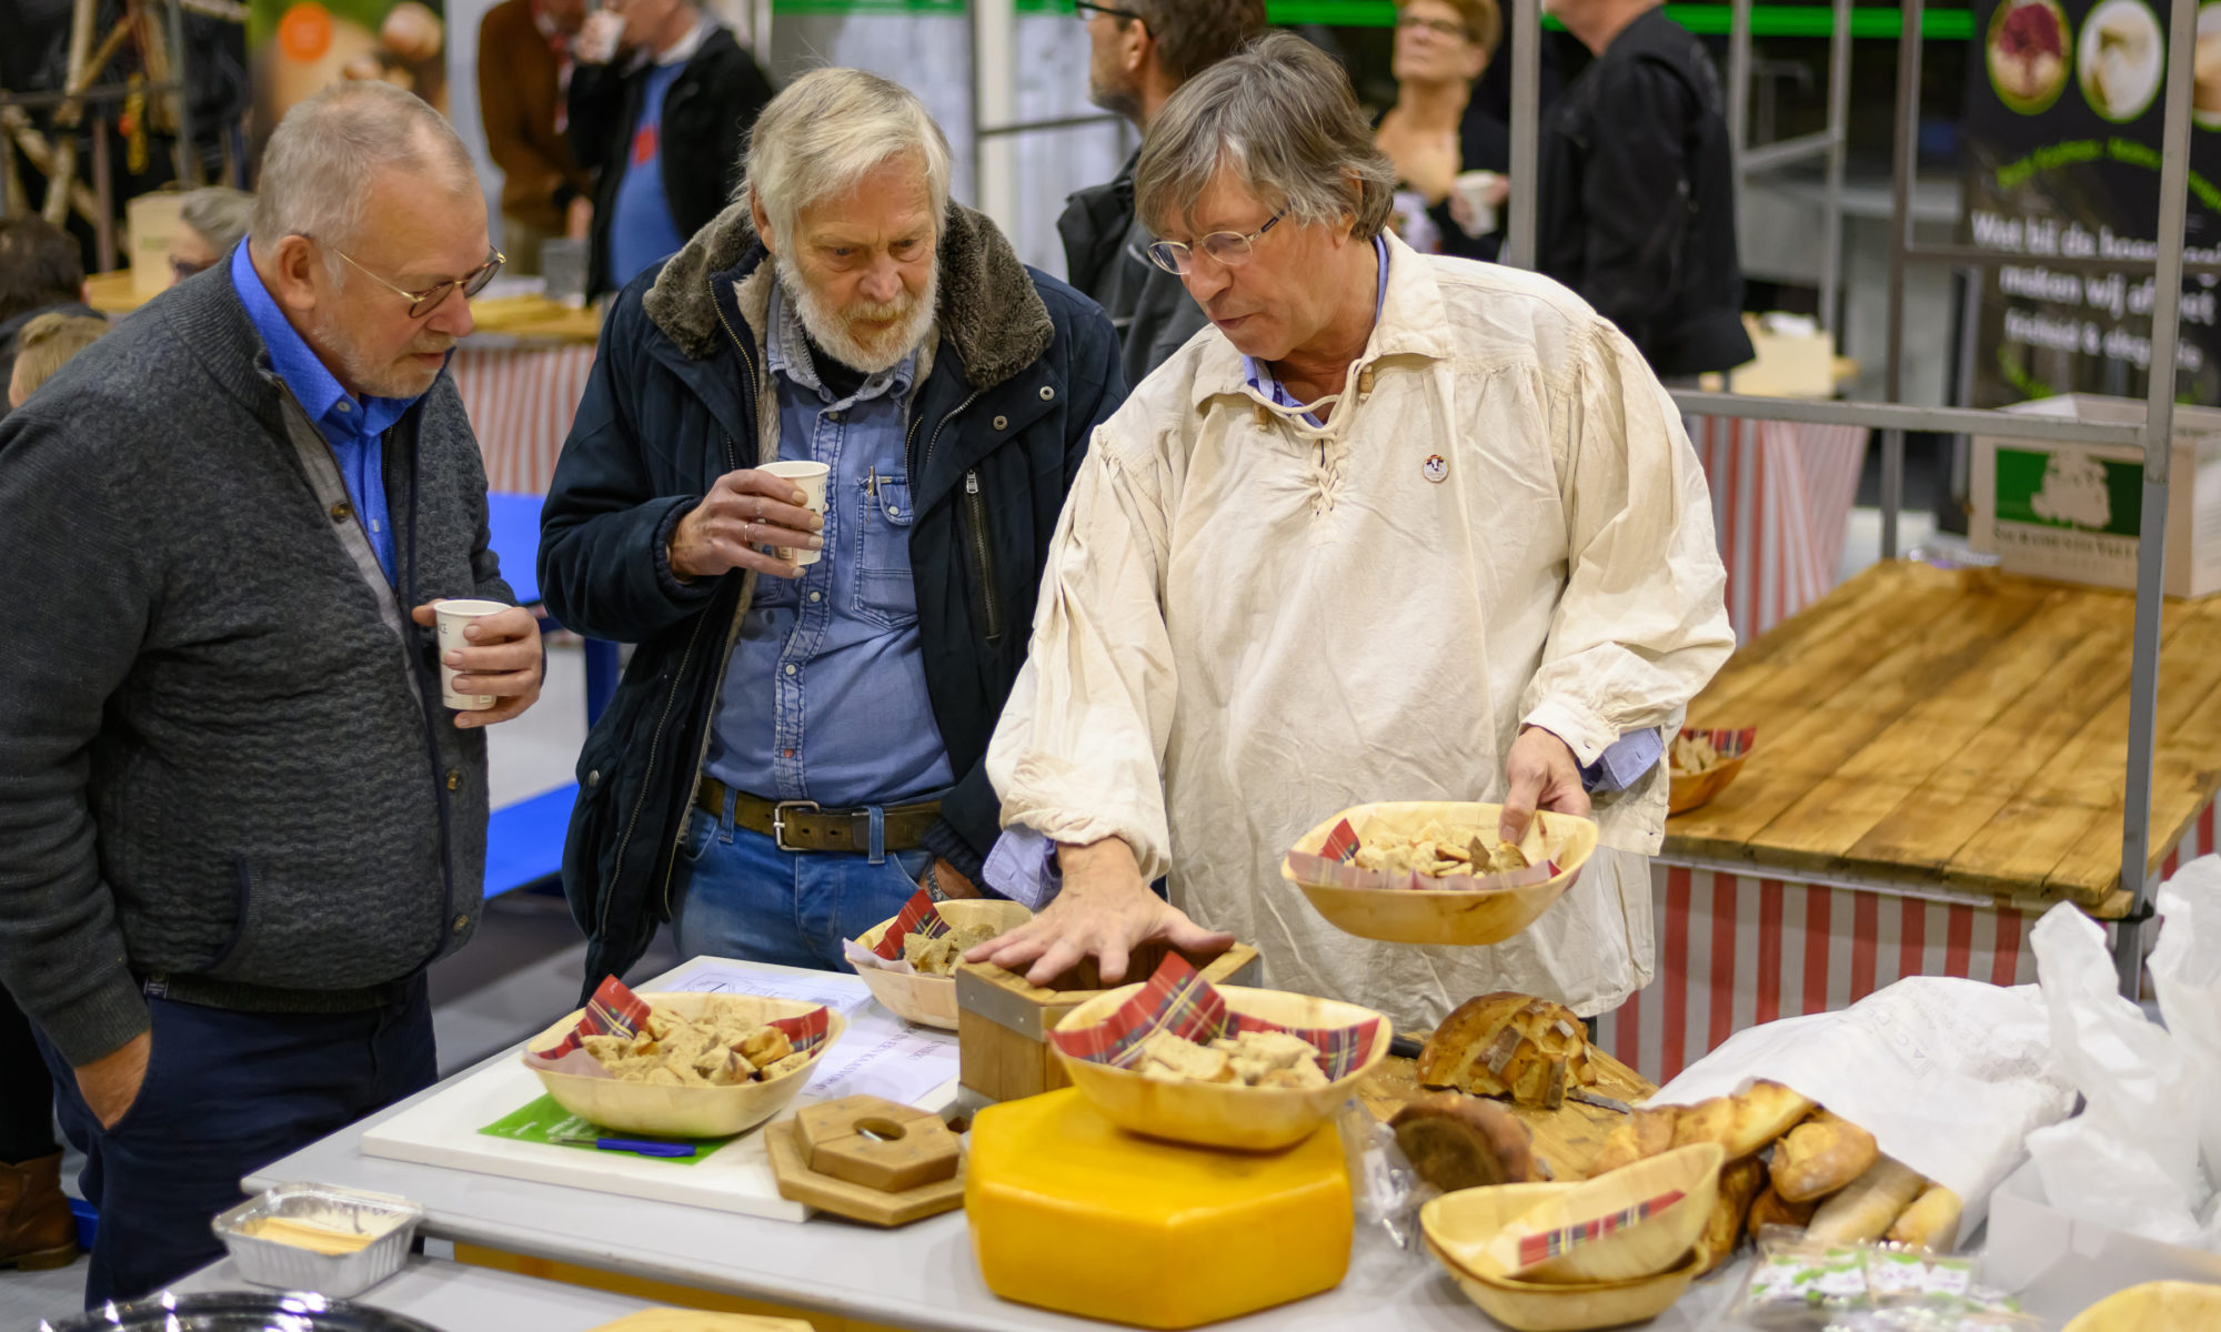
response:
M573 51L571 147L595 171L586 293L602 295L717 218L771 78L693 0L609 0Z

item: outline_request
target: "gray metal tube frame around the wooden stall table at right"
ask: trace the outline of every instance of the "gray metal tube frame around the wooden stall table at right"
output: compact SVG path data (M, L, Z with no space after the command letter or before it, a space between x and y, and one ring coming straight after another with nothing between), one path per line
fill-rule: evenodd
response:
M1748 69L1750 58L1750 0L1732 0L1730 64L1737 73ZM1839 102L1848 98L1848 2L1835 0L1835 49L1830 71L1830 129L1841 129ZM2190 186L2190 91L2192 58L2197 44L2197 7L2168 7L2168 71L2165 71L2165 120L2161 129L2159 167L2159 235L2152 260L2108 260L2106 266L2119 273L2154 275L2152 300L2152 369L2145 389L2145 411L2141 426L2083 424L2070 420L2039 422L2034 417L2008 415L1979 408L1906 406L1903 353L1906 353L1906 271L1919 264L1977 264L1997 266L2010 255L1972 246L1919 246L1910 229L1912 171L1919 153L1919 87L1921 87L1921 18L1926 0L1901 0L1903 27L1897 38L1897 131L1895 173L1890 189L1890 291L1888 291L1888 360L1883 366L1886 402L1799 402L1781 397L1743 397L1735 393L1686 393L1675 391L1675 402L1695 415L1723 415L1772 422L1817 422L1841 426L1870 426L1881 431L1881 557L1897 557L1897 513L1903 506L1906 431L1934 431L1961 435L1974 431L2010 433L2030 440L2054 440L2063 444L2137 444L2143 451L2143 524L2137 542L2137 624L2130 659L2130 708L2128 708L2128 770L2123 817L2121 817L2121 886L2130 890L2128 917L2114 921L2114 968L2121 992L2130 999L2141 988L2143 972L2143 917L2152 897L2152 750L2159 717L2159 610L2165 593L2168 555L2168 468L2174 437L2174 353L2183 300L2183 215L2188 211ZM1541 16L1537 0L1515 0L1515 22L1519 31L1532 31ZM1737 58L1737 49L1741 56ZM1537 87L1541 53L1535 42L1513 47L1513 180L1532 182L1537 160ZM1735 115L1735 144L1741 147L1743 80L1730 100ZM1821 138L1790 140L1775 144L1772 158L1759 164L1777 164L1826 147L1830 169L1843 151L1841 135L1819 144ZM1763 153L1763 149L1761 149ZM1737 164L1741 175L1752 153L1743 153ZM1837 209L1830 209L1837 213ZM1510 200L1510 233L1506 262L1532 264L1535 255L1535 191L1515 189ZM1830 246L1835 249L1835 246ZM2050 262L2050 260L2046 260ZM2197 271L2205 271L2199 264ZM1901 892L1901 888L1886 888Z

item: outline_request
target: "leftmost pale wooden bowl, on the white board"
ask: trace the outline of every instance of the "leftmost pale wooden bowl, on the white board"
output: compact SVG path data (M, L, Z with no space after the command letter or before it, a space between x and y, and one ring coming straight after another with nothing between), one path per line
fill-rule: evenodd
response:
M742 1021L757 1023L775 1017L800 1017L817 1008L800 999L760 999L755 995L642 995L642 999L689 1019L717 1008ZM549 1026L526 1043L526 1050L555 1046L577 1026L584 1012L580 1008ZM526 1068L540 1077L540 1086L555 1097L557 1106L602 1128L682 1139L733 1137L786 1110L786 1103L802 1092L802 1083L811 1081L811 1070L840 1041L842 1032L848 1030L848 1019L840 1012L828 1012L826 1017L831 1017L826 1039L811 1052L811 1061L773 1081L733 1083L728 1088L666 1088L613 1077L551 1072L533 1068L531 1061L526 1061Z

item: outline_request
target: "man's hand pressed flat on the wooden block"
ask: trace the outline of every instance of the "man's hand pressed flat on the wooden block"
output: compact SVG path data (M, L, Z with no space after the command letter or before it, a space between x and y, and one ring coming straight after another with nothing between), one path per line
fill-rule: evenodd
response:
M1024 926L966 952L964 961L993 961L1013 972L1033 963L1026 981L1046 986L1093 957L1104 986L1117 986L1126 979L1128 955L1150 939L1188 952L1224 952L1235 941L1150 892L1133 848L1119 837L1057 846L1057 859L1064 892Z

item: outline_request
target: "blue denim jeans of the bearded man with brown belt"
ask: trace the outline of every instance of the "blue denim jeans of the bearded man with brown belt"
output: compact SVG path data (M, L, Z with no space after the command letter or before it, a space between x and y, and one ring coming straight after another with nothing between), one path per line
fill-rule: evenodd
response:
M848 970L842 939L902 910L933 852L784 852L771 837L695 808L673 872L671 932L680 957L740 957L813 970Z

